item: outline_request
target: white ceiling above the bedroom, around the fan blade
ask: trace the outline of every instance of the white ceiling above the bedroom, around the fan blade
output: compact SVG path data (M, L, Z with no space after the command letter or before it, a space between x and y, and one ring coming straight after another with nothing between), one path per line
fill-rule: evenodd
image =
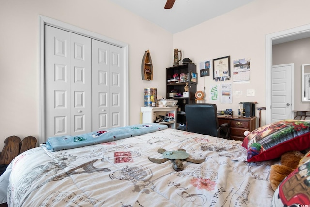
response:
M172 9L164 9L166 0L110 1L174 34L253 0L176 0Z

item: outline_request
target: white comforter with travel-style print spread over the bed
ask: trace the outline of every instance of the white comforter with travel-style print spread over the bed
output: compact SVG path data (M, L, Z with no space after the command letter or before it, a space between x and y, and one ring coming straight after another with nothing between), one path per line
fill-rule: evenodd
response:
M150 124L153 125L153 124ZM241 141L171 128L104 143L17 156L0 177L1 201L25 207L256 207L270 206L270 166L247 161ZM175 171L158 149L184 149L201 164Z

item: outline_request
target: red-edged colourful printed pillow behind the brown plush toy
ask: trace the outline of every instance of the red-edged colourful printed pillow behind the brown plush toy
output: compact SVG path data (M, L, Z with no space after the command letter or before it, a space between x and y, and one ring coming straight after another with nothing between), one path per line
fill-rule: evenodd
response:
M310 147L310 120L283 120L257 128L246 136L248 162L266 161L284 152Z

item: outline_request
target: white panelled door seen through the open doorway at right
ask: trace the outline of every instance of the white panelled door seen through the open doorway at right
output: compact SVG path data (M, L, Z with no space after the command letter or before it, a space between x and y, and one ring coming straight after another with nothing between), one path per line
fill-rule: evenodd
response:
M294 64L272 66L271 122L292 117L292 70Z

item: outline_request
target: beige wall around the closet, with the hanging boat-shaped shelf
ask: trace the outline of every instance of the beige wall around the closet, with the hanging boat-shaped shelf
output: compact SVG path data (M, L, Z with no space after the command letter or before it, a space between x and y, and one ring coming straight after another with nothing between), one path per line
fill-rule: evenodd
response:
M164 71L173 62L172 33L109 0L1 0L0 150L8 136L39 136L38 15L129 45L130 124L140 123L144 88L165 93ZM141 61L148 49L153 81L141 79Z

